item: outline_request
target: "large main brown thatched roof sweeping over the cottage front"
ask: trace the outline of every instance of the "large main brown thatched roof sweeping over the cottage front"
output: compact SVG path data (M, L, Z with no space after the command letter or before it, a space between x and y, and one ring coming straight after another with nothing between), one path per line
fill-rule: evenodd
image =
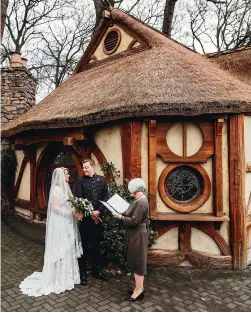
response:
M141 38L145 48L83 69L85 54L75 73L6 124L3 136L127 117L251 112L251 90L229 73L119 9L111 11L111 18Z

